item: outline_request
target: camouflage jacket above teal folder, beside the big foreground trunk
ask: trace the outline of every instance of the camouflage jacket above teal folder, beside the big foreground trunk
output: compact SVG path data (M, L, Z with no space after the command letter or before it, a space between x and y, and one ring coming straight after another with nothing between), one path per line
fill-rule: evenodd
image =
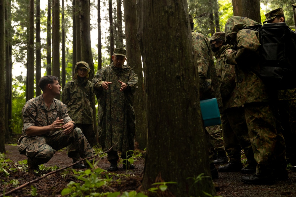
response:
M222 106L219 80L214 65L214 58L210 47L210 40L201 33L192 31L192 46L197 62L200 92L200 100L216 98L219 107Z

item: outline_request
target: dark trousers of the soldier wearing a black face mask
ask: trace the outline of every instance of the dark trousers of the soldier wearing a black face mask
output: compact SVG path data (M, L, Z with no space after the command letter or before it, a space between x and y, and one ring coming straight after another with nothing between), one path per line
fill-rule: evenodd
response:
M243 107L224 110L221 114L222 134L225 150L230 162L241 161L241 150L247 157L247 163L255 165L254 153L251 146L248 127Z

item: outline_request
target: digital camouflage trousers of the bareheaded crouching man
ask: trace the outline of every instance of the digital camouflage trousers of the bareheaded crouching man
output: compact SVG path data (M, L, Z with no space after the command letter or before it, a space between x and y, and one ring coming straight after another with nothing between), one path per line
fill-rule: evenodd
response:
M88 141L79 128L73 129L68 135L59 131L52 136L44 136L43 141L29 144L25 149L25 155L30 158L28 159L30 161L29 165L38 166L48 162L57 150L65 148L70 144L78 148L81 158L94 155ZM87 164L86 161L84 163Z

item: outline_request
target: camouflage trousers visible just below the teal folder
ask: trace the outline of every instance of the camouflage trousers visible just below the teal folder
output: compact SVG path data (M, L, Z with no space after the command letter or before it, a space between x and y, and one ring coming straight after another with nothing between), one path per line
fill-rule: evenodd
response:
M206 127L206 130L210 134L210 142L214 146L214 150L218 152L224 152L224 143L221 137L221 126L208 126Z

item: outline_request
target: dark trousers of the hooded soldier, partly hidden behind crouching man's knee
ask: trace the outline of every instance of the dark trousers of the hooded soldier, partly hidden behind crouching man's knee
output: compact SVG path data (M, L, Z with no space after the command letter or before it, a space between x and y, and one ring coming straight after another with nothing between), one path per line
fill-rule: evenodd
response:
M86 137L91 148L96 145L96 133L94 132L93 124L76 124L78 128L82 131L83 135ZM68 157L73 159L73 163L80 160L80 155L77 146L70 144L67 147Z

